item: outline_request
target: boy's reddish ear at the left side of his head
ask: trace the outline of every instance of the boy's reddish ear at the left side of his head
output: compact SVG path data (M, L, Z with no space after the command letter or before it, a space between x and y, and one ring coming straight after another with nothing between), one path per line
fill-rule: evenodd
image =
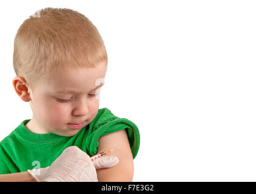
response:
M24 78L22 78L21 76L16 76L15 78L13 78L13 87L19 98L22 99L22 101L29 102L31 100L29 89L27 87L27 82Z

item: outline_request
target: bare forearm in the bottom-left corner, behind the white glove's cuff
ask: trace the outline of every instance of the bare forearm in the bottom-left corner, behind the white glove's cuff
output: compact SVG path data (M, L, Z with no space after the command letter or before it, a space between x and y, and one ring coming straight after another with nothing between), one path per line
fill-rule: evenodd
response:
M36 182L29 172L18 172L0 175L0 182Z

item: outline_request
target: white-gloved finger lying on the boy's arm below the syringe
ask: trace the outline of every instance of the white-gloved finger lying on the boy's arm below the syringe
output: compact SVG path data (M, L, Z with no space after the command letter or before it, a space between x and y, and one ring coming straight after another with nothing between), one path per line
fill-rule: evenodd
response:
M105 169L116 166L119 159L116 156L103 156L92 161L95 169Z

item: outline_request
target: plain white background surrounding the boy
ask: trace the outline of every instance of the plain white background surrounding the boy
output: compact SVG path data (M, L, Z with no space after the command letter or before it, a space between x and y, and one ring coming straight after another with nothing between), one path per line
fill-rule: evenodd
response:
M13 41L45 7L84 14L103 37L100 108L140 130L133 181L256 181L255 1L2 1L0 140L32 117Z

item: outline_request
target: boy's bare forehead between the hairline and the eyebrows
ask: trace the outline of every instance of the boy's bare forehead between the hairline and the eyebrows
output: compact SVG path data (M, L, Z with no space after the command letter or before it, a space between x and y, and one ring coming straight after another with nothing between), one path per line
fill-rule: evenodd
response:
M61 92L76 90L78 92L89 92L96 85L104 82L106 67L97 66L93 68L73 68L53 70L44 86L49 92Z

